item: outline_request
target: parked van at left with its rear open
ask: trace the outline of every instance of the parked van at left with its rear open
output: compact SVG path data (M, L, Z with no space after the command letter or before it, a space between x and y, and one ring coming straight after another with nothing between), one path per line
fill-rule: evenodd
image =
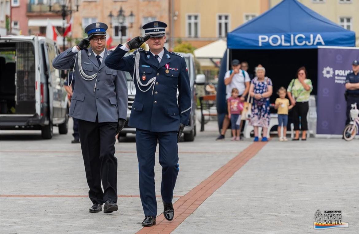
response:
M60 71L52 60L56 43L39 36L1 36L2 130L41 130L52 137L53 126L67 133L68 100Z

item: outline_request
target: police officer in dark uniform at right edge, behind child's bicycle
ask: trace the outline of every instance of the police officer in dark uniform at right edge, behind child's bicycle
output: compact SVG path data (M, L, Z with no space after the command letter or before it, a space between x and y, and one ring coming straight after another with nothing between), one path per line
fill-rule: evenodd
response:
M346 100L346 121L345 125L350 122L351 104L356 104L359 107L359 61L354 60L353 72L346 75L345 78L345 100Z

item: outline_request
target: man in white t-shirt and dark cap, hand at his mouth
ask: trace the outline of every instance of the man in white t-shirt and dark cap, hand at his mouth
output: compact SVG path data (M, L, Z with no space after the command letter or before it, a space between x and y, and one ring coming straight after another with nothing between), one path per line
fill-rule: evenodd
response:
M224 75L224 84L226 85L226 112L223 120L221 134L217 138L217 140L224 139L225 132L229 126L228 119L228 110L227 110L227 100L231 96L232 89L237 88L239 92L239 97L241 97L241 101L245 100L245 96L248 94L250 87L251 79L248 73L244 70L241 70L241 64L238 59L234 59L232 61L232 70L229 70Z

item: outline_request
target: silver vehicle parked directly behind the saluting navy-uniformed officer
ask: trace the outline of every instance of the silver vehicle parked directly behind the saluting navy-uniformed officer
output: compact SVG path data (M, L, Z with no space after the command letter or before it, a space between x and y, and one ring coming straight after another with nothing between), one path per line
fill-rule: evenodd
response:
M191 106L191 114L190 114L190 123L188 126L185 127L183 131L183 138L185 141L194 141L196 136L196 108L197 108L197 97L196 97L196 83L204 84L205 82L205 75L198 74L196 76L196 69L195 69L195 59L192 54L184 54L178 53L183 56L186 60L188 74L190 76L190 84L191 84L191 94L192 94L192 106ZM127 121L125 127L120 132L120 136L126 136L127 133L135 133L135 128L130 128L127 123L130 118L132 104L135 100L136 88L133 88L131 93L130 87L130 74L126 72L127 76L127 86L128 86L128 110L127 110ZM196 80L195 80L196 79ZM177 90L177 97L178 97L178 90Z

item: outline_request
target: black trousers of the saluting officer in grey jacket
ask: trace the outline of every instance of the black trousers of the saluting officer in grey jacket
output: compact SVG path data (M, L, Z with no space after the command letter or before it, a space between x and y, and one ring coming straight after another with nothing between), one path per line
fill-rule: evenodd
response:
M116 130L116 122L98 123L97 118L95 123L79 120L81 150L92 203L117 202Z

